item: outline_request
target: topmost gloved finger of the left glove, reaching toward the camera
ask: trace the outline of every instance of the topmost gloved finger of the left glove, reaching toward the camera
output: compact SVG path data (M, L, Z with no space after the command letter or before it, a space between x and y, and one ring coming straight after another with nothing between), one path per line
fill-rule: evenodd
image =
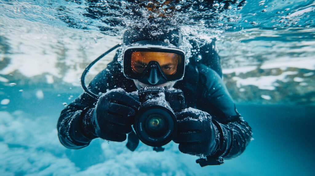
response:
M108 94L108 96L111 101L117 102L118 104L123 104L125 106L129 106L135 109L138 109L138 107L140 106L140 102L138 100L124 92L111 92Z

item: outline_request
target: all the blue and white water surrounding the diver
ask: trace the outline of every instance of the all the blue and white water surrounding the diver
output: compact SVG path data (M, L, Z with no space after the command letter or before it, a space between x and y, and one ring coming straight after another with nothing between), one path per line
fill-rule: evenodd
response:
M0 0L0 175L313 175L315 1L187 0L156 11L144 2ZM57 120L83 92L84 68L124 29L165 19L188 39L216 38L224 81L253 129L245 152L201 168L173 142L159 153L100 139L63 147Z

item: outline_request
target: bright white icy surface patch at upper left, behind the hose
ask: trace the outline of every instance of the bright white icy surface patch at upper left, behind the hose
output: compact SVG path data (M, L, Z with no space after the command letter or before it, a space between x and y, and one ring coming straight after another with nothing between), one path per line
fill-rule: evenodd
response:
M56 28L54 25L24 19L1 18L1 23L11 24L5 28L0 26L0 35L6 36L14 53L2 54L1 58L8 57L10 62L0 70L0 74L8 75L18 71L26 77L34 77L46 73L50 75L47 77L49 83L53 82L54 76L62 78L66 83L80 86L80 76L84 68L121 42L118 37L102 35L98 31L87 32L66 26ZM96 75L103 70L114 54L115 51L105 56L89 74ZM63 60L64 58L66 59ZM66 70L61 70L60 65ZM7 82L7 79L0 77L0 81Z

